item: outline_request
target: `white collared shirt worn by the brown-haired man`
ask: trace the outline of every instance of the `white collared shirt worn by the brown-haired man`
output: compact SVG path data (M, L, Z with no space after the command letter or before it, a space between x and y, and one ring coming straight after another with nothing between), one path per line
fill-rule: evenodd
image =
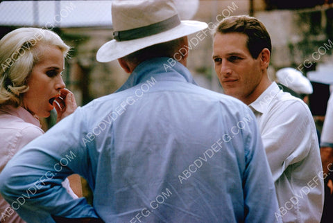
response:
M262 133L283 222L320 222L323 172L309 108L275 82L249 107Z

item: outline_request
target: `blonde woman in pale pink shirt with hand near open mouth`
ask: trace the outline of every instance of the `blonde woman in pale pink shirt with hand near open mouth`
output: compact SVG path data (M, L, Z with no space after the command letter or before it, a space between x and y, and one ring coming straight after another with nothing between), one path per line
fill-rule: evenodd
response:
M76 109L62 80L68 51L56 33L40 28L17 28L0 40L0 172L18 150L44 134L38 117L56 108L60 121ZM76 197L68 179L62 185ZM24 222L17 208L0 195L0 222Z

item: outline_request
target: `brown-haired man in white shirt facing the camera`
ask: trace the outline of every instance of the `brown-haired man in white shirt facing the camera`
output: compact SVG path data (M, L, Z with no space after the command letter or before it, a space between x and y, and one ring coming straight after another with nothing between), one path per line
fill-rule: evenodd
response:
M307 105L268 79L271 38L254 17L223 19L214 33L213 60L226 94L257 118L283 222L320 222L324 187L318 137Z

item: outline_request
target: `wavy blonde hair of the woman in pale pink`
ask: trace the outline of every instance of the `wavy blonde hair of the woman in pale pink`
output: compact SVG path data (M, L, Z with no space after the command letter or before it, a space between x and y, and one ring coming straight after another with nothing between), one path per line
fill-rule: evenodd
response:
M22 104L26 80L42 57L42 46L56 46L67 56L69 46L53 31L17 28L0 39L0 106Z

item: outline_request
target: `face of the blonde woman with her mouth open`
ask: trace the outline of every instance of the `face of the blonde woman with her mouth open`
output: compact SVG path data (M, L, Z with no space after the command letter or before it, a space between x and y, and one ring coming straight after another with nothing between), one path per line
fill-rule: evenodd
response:
M56 46L40 46L40 61L33 66L28 77L29 89L23 95L25 109L40 117L49 117L54 98L65 88L61 72L64 69L64 56Z

